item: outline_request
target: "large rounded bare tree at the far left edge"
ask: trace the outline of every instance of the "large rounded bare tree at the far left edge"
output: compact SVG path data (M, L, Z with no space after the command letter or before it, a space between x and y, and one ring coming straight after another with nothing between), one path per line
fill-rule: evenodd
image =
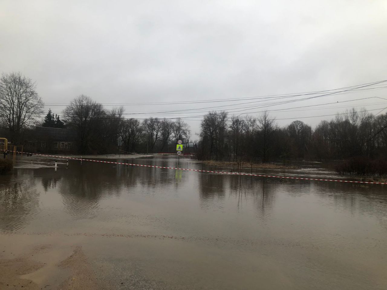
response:
M36 123L43 113L43 101L36 84L18 73L3 73L0 78L0 124L8 128L10 140L21 142L21 131Z

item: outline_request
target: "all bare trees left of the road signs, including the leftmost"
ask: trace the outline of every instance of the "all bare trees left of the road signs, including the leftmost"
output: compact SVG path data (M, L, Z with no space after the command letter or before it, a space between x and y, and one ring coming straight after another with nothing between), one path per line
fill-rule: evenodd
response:
M177 140L189 143L191 138L189 126L181 119L125 119L123 107L107 110L85 95L75 97L62 117L49 110L42 120L44 103L36 83L20 72L2 74L0 102L0 127L15 145L33 136L34 126L74 130L80 154L117 153L118 145L127 152L169 151Z

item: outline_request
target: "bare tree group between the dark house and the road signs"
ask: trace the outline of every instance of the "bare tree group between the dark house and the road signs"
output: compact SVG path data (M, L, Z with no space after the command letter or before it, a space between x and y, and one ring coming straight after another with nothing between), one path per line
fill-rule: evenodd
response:
M182 119L126 119L123 112L123 107L107 110L80 95L64 109L63 118L65 126L76 131L82 154L112 153L118 145L126 152L168 152L177 140L190 142L190 128Z

